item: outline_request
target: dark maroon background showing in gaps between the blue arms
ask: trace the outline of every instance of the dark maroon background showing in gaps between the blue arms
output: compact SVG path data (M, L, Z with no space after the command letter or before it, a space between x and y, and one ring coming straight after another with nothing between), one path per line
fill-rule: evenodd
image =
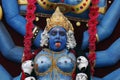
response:
M1 0L0 0L1 1ZM112 0L109 0L112 1ZM46 24L45 18L39 18L40 20L36 22L36 24L40 27L44 27ZM8 29L9 33L11 34L14 42L16 45L23 46L23 37L17 33L15 30L11 29L9 25L6 23L4 18L2 19L2 22ZM87 30L86 23L81 23L80 27L76 27L76 21L71 21L73 23L73 26L75 28L75 38L77 40L77 43L81 44L82 41L82 35L85 30ZM120 21L116 25L115 30L113 31L112 35L105 39L104 41L98 43L97 46L97 51L100 50L105 50L107 49L117 38L120 37ZM0 53L0 64L5 67L5 69L12 75L12 76L17 76L21 72L20 64L11 62L7 59L5 59L1 53ZM116 63L114 66L109 66L109 67L103 67L100 69L95 69L95 75L98 77L103 77L110 72L114 71L115 69L120 67L120 61Z

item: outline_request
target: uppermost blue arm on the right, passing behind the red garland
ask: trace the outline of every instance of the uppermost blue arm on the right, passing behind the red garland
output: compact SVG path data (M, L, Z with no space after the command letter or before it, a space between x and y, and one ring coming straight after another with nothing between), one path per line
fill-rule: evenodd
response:
M100 21L99 25L97 26L97 31L98 31L97 34L99 36L99 41L104 40L105 38L109 37L112 34L113 30L116 27L117 22L120 19L119 11L120 11L120 1L114 0L111 7L108 9L103 19ZM85 49L88 46L88 39L89 39L88 31L85 31L81 46L82 49Z

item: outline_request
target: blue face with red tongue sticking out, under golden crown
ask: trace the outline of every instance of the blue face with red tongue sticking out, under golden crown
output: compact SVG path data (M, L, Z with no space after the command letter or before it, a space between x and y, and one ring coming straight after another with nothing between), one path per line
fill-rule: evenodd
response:
M49 31L49 47L53 51L61 51L66 48L66 30L56 26Z

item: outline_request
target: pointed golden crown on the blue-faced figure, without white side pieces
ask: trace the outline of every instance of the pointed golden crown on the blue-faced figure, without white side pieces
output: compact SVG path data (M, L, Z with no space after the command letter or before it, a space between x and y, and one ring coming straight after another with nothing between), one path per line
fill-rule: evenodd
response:
M59 7L56 8L55 12L52 14L52 16L50 18L46 19L47 21L47 25L46 25L46 30L50 30L51 28L55 27L55 26L61 26L63 28L66 29L66 31L68 30L72 30L73 29L73 25L70 23L70 21L62 14L62 12L60 11Z

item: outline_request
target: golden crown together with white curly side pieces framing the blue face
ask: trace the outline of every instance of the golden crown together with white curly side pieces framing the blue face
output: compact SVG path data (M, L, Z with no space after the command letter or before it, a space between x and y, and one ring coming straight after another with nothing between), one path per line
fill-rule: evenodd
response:
M40 46L48 45L48 32L56 26L61 26L67 31L67 48L74 48L76 46L76 41L74 38L74 29L70 21L60 12L59 7L50 18L47 18L47 25L45 30L41 34Z

